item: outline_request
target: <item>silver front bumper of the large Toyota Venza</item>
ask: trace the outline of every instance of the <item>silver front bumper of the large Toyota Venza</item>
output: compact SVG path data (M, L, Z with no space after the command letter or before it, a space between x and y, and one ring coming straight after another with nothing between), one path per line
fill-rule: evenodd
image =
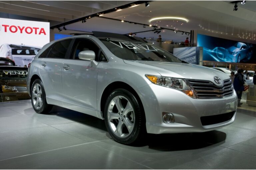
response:
M232 96L222 99L193 99L181 91L155 84L138 90L145 110L148 133L204 132L230 125L235 119L237 109L235 91ZM162 112L172 113L175 123L164 123ZM201 117L231 112L234 116L228 121L202 125Z

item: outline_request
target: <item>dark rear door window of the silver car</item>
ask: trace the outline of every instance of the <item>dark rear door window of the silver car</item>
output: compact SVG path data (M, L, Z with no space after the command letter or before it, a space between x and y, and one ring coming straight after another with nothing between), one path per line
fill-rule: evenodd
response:
M66 52L68 50L70 40L64 40L61 42L56 42L52 47L49 56L50 58L65 58Z

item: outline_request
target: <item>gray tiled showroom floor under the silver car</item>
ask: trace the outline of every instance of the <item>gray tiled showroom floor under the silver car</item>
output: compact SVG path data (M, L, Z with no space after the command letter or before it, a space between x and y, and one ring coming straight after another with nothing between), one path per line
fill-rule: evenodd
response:
M134 147L92 116L0 103L0 169L256 169L256 112L239 109L232 125L210 132L148 134Z

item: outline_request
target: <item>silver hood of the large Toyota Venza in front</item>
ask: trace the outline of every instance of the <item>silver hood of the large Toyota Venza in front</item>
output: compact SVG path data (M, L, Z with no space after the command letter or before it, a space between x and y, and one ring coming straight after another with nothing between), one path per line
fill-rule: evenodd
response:
M209 67L190 64L190 63L137 61L137 60L136 61L124 60L124 62L126 64L141 67L142 69L144 68L144 70L149 69L149 70L157 71L159 74L165 77L210 80L212 82L214 82L215 76L219 77L221 80L226 80L230 78L227 74L221 71L218 71ZM147 73L145 72L145 74Z

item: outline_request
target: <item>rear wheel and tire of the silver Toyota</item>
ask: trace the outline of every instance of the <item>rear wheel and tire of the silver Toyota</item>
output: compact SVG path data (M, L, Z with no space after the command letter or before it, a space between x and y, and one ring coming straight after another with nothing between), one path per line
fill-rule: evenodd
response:
M36 113L48 114L52 105L47 104L43 83L40 79L36 79L32 84L31 103Z

